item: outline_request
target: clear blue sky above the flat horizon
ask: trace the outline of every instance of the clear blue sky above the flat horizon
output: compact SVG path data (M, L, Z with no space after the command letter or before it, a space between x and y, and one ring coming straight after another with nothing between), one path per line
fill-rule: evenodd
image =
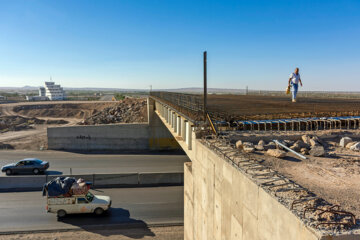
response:
M0 0L0 86L360 91L360 1Z

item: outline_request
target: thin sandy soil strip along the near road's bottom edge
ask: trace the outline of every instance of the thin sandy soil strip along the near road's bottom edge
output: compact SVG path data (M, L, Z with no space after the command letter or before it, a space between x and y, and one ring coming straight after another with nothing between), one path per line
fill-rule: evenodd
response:
M153 240L180 240L184 239L184 227L155 227L132 228L119 230L81 230L69 232L32 233L0 235L1 240L128 240L128 239L153 239Z

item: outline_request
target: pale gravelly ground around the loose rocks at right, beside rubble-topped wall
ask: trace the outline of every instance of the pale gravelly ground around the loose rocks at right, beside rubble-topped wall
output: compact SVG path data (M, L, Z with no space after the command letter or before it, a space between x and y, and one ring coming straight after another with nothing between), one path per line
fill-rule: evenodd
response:
M340 147L339 141L342 136L352 135L354 141L359 142L360 130L328 130L306 133L325 139L323 140L326 146L325 156L306 155L308 159L303 160L288 152L284 158L275 158L268 156L265 151L255 151L255 153L250 153L249 156L262 160L264 165L270 166L329 203L340 205L343 210L354 213L359 219L360 152ZM301 136L301 133L253 132L248 133L248 136L245 135L242 135L242 139L246 141L259 138L266 139L269 136L272 139L284 140L291 139L292 135Z

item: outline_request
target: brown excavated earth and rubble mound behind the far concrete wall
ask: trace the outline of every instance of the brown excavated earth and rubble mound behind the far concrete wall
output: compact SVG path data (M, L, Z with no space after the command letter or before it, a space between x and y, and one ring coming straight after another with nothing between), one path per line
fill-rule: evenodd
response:
M146 99L0 104L0 149L47 149L48 127L146 122Z

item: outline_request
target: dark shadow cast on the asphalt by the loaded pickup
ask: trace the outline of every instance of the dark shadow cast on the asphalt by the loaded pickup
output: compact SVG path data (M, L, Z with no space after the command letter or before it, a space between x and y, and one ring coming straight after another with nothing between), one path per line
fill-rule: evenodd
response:
M123 208L111 208L101 216L94 214L67 215L58 221L102 236L111 236L115 232L117 235L121 234L133 239L155 236L144 221L130 218L130 212Z

